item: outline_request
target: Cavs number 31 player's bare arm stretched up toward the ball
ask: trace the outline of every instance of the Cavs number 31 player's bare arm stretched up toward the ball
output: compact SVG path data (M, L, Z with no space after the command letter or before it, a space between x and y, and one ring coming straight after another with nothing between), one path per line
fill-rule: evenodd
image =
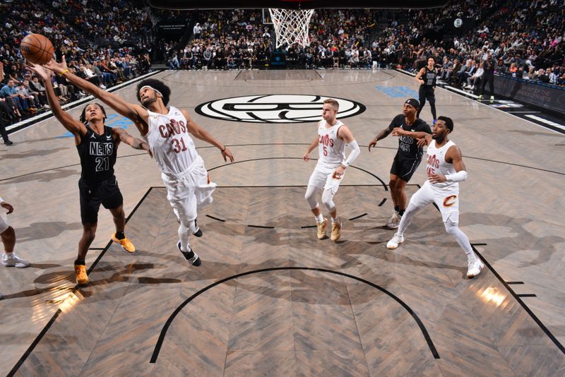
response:
M146 128L149 114L141 105L126 102L119 96L114 95L111 92L107 92L106 90L102 90L93 83L90 83L90 81L84 80L83 78L76 76L74 73L71 73L69 68L66 68L64 56L61 64L57 64L56 61L52 60L44 66L61 76L65 76L69 82L78 86L78 88L81 88L85 92L89 92L94 97L102 100L102 102L107 104L109 107L112 107L112 109L116 110L120 115L131 119L142 134L147 132Z

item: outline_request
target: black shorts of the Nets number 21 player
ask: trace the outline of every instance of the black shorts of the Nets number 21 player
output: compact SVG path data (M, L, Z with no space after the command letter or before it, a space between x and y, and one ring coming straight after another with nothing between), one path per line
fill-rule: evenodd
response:
M113 210L124 203L124 197L121 196L115 177L100 182L96 187L90 187L80 179L78 191L81 193L81 220L83 224L98 222L100 204L104 205L107 210Z

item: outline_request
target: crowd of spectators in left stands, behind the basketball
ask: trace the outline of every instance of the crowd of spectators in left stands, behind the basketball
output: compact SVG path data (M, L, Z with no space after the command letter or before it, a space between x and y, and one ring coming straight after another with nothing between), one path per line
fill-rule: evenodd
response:
M45 89L25 66L19 51L23 37L36 32L52 41L55 56L69 69L109 88L150 70L144 38L153 28L148 9L136 1L0 2L0 122L11 124L49 109ZM61 103L85 93L52 78Z

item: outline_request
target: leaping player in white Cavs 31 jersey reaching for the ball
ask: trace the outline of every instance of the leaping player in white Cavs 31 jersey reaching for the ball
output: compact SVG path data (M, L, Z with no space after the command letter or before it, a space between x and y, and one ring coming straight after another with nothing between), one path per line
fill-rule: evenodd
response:
M167 199L180 224L177 247L191 265L201 265L189 239L191 234L196 237L202 235L196 225L196 210L198 205L212 203L215 184L210 183L191 135L214 145L225 161L229 158L233 162L230 148L198 126L186 110L167 107L171 90L160 80L148 78L138 84L137 98L141 106L128 103L69 72L64 56L61 64L52 60L45 66L133 121L141 136L147 140L153 158L161 169L161 177L167 187Z

